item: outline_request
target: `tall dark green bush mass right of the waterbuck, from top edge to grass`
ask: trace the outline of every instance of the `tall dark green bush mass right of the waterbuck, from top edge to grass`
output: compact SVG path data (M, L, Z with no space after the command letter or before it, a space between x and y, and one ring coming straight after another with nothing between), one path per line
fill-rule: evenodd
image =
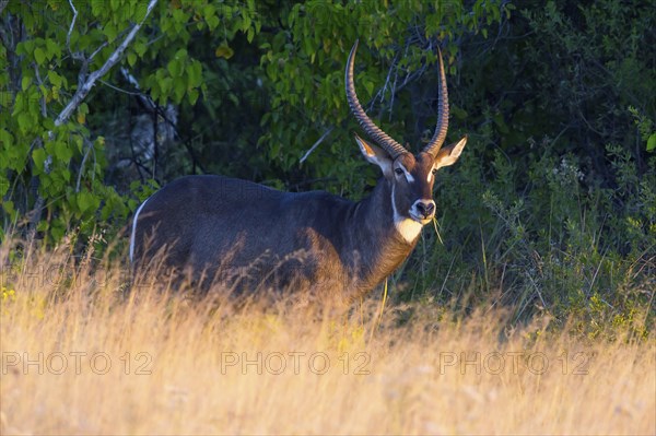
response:
M471 87L456 98L472 133L437 186L446 246L424 235L399 298L464 308L492 299L516 319L543 314L593 337L620 326L645 335L656 274L656 160L646 154L656 15L645 2L536 5L523 3L493 57L464 48Z

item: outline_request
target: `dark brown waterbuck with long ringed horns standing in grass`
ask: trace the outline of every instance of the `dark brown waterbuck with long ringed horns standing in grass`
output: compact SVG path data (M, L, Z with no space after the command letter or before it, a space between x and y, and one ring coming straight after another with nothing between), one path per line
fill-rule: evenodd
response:
M442 55L437 127L427 145L412 154L362 108L353 83L356 49L358 42L347 62L347 99L377 145L358 135L355 141L364 158L383 173L368 198L353 202L328 192L282 192L222 176L183 177L137 210L130 260L145 267L164 252L164 266L210 279L220 270L249 269L246 275L254 287L267 282L343 303L394 272L435 214L435 173L458 160L467 138L442 148L448 126Z

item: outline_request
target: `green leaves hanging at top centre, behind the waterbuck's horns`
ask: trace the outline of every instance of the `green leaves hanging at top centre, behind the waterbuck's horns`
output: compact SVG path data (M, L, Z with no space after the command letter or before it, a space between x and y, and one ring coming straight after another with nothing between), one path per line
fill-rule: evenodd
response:
M411 126L419 115L422 125L433 128L435 113L426 106L435 107L435 94L421 102L426 114L418 113L397 95L397 81L421 78L418 87L429 84L436 90L437 47L443 45L452 64L458 54L458 38L487 32L509 9L502 1L477 1L469 9L452 2L403 1L391 5L315 0L283 10L281 28L260 45L265 51L260 63L273 93L258 144L268 148L269 160L279 163L284 173L294 173L327 126L338 126L326 141L329 143L309 156L309 168L303 168L298 176L329 180L323 187L340 192L362 191L363 180L352 175L364 172L367 184L377 175L353 158L358 150L352 146L351 131L356 123L343 97L343 66L353 42L361 40L355 78L361 99L372 102L375 109L371 114L377 115L387 132L417 146L424 132ZM394 83L389 83L390 78ZM344 166L333 165L332 160Z

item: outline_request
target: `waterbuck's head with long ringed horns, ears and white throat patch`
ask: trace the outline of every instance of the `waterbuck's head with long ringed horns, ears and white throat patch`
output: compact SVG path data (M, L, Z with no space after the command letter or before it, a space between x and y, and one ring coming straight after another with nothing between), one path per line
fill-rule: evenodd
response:
M391 186L395 226L403 238L411 243L419 235L421 227L435 215L435 201L433 201L435 173L444 166L456 163L467 143L467 137L448 146L442 146L448 128L448 95L442 52L440 54L437 127L427 145L420 153L412 154L380 130L362 108L353 83L356 50L358 42L351 48L347 63L347 99L353 116L377 145L359 135L355 135L355 141L364 157L380 167L383 176Z

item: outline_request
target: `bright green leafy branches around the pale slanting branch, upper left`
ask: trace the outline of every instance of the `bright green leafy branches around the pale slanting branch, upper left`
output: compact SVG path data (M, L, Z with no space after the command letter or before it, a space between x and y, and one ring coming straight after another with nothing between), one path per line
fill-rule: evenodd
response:
M148 15L148 3L137 0L74 3L11 2L3 12L0 236L8 229L36 231L54 243L75 228L86 237L118 229L142 188L121 192L107 184L110 153L105 138L110 138L112 148L115 143L113 132L99 125L106 125L107 94L118 89L105 81L116 78L121 66L139 69L141 86L154 102L194 105L207 86L202 64L185 48L192 34L213 30L225 19L234 23L232 36L244 32L251 38L259 28L253 21L253 2L250 9L199 1L161 3L119 64L67 118L65 107L75 92Z

